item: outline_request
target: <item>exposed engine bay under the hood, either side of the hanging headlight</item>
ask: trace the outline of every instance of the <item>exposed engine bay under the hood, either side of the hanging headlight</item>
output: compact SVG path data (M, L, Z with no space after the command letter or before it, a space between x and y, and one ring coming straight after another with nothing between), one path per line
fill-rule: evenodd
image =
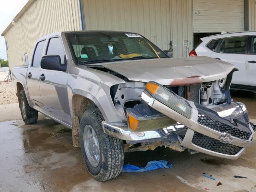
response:
M194 84L188 86L165 86L168 90L174 92L178 96L185 98L202 106L212 106L223 103L226 97L223 90L225 79L217 80L214 82L206 82L202 84ZM133 109L142 112L142 116L150 117L151 113L146 113L147 106L144 105L141 94L144 90L146 83L144 82L126 82L123 84L115 85L111 88L111 96L123 122L126 122L126 110ZM139 107L140 105L144 107ZM144 110L143 110L144 109Z

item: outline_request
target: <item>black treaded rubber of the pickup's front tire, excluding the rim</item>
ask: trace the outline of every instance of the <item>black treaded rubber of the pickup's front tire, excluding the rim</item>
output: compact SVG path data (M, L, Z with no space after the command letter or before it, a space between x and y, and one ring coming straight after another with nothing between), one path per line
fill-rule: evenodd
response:
M98 181L106 181L118 176L124 165L123 141L104 133L102 128L104 120L100 110L93 108L84 112L80 121L79 139L82 155L88 172ZM84 128L91 126L98 138L100 158L98 166L92 166L86 155L84 145Z

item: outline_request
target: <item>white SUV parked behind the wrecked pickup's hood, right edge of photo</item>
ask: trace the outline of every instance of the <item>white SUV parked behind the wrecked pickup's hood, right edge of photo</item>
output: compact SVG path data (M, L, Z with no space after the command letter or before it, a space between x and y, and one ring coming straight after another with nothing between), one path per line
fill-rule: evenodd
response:
M238 68L231 89L256 91L256 32L222 33L201 38L189 56L209 56Z

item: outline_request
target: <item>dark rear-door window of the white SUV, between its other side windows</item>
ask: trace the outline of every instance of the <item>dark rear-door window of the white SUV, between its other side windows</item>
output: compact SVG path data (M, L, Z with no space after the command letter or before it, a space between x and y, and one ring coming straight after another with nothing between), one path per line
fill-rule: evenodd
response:
M246 53L247 37L224 38L220 44L220 53Z

